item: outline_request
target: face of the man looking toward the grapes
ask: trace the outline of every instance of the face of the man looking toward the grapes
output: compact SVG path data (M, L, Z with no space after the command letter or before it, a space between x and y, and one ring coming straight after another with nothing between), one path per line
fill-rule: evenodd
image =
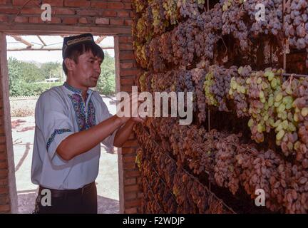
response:
M103 60L93 56L91 51L83 53L78 57L78 63L73 69L74 81L86 88L95 87L101 74L102 62Z

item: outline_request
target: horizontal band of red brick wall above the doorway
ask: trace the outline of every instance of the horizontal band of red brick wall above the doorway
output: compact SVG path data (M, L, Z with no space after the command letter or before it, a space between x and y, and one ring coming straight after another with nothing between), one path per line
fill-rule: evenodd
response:
M0 22L8 24L43 24L40 1L1 0ZM130 26L132 11L130 0L87 1L87 0L43 0L50 4L52 19L46 24L88 26ZM26 4L26 5L24 5Z

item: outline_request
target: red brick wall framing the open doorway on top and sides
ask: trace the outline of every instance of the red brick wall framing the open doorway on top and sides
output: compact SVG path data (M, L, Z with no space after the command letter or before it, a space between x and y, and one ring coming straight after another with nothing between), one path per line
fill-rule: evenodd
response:
M86 33L106 34L115 37L117 90L131 91L138 73L133 53L131 24L133 11L131 0L88 1L88 0L43 0L51 4L51 21L41 21L40 1L0 0L0 33L19 34L65 34ZM0 35L1 36L1 35ZM0 47L1 49L2 47ZM1 56L0 56L1 58ZM2 57L3 58L3 57ZM4 60L0 59L1 63ZM1 78L7 77L1 74ZM1 84L7 84L1 83ZM6 139L8 133L4 130L5 105L2 95L5 90L0 88L0 212L11 212L12 199L9 197L9 154ZM5 88L5 87L4 87ZM8 131L9 132L9 131ZM11 133L9 133L10 135ZM133 135L120 150L119 190L120 212L135 213L140 206L140 190L138 189L138 168L135 166L135 150L137 144Z

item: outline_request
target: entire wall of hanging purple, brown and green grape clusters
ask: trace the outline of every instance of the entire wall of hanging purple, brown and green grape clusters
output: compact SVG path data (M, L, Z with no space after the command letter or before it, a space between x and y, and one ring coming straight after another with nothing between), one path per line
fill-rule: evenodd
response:
M279 69L284 43L308 53L308 3L286 2L283 12L281 0L133 1L138 88L193 92L191 125L135 126L142 212L257 211L259 189L272 212L308 212L308 79Z

